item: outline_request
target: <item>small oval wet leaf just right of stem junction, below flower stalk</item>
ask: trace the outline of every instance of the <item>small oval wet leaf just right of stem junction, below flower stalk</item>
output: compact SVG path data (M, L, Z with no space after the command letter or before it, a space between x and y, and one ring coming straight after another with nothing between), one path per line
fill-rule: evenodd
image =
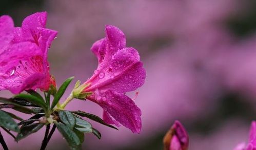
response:
M58 117L60 117L61 121L66 124L71 129L74 128L76 120L75 116L69 111L60 111L58 112Z

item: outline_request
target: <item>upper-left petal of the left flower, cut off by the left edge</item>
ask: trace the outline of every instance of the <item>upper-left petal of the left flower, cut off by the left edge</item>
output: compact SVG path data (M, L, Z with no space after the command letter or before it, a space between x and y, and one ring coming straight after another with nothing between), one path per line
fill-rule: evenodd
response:
M13 39L14 24L10 16L0 17L0 54L5 51L10 41Z

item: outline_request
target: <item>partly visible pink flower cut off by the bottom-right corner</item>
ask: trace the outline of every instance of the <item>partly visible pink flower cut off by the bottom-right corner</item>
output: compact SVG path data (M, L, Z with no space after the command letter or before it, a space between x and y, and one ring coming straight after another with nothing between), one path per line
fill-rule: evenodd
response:
M256 121L251 122L249 143L240 143L234 150L256 150Z

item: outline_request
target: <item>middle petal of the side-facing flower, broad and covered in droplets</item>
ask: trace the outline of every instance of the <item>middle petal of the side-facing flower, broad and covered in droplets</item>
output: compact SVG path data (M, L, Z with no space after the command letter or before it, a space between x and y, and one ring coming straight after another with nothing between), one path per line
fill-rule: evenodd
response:
M144 84L146 71L140 62L139 53L133 48L116 52L108 68L99 73L86 91L109 89L119 93L134 91Z

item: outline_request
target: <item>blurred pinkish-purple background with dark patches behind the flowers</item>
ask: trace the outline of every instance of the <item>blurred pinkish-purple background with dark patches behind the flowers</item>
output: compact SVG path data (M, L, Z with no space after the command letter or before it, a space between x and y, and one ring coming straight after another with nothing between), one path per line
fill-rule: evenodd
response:
M256 1L0 2L0 15L12 16L16 26L40 11L48 12L47 28L58 31L49 50L58 85L73 75L82 81L92 75L97 60L90 47L105 36L105 25L123 30L127 46L139 51L147 70L135 100L143 113L141 134L93 123L102 139L87 134L84 149L162 149L176 119L188 131L190 150L227 150L247 142L256 116ZM1 91L0 96L11 94ZM74 100L67 109L102 115L90 101ZM19 143L5 138L10 149L37 149L43 135L41 130ZM47 149L69 148L55 132Z

